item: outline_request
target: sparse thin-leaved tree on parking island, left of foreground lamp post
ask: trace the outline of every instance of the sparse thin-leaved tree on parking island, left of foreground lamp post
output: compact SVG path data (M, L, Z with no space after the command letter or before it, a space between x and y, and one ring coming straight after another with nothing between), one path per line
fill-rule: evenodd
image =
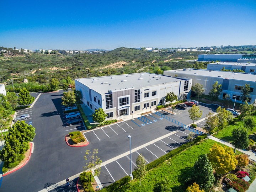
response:
M92 176L99 176L100 175L100 166L102 161L100 158L97 156L98 154L98 149L94 149L91 153L90 150L85 151L85 166L84 166L84 171L90 171L92 173ZM90 174L90 182L91 182L91 174Z

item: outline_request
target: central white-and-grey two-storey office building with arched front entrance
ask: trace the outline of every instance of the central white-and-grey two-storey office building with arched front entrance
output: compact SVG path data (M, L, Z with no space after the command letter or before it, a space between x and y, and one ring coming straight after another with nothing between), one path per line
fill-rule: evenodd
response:
M165 104L167 93L174 92L179 100L187 98L192 80L172 78L151 73L103 76L75 79L76 90L81 91L82 101L95 112L102 108L108 119L140 114L157 105Z

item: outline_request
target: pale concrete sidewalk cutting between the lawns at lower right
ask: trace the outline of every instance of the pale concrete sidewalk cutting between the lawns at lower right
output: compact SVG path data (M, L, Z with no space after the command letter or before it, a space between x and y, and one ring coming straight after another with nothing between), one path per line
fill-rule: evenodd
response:
M225 141L223 141L223 140L221 140L221 139L218 139L218 138L216 138L216 137L213 137L212 135L209 136L209 139L212 139L212 140L214 140L214 141L217 141L217 142L219 142L219 143L222 143L222 144L224 144L224 145L227 145L227 146L229 146L229 147L231 147L231 148L233 148L233 149L235 148L231 143L228 143L228 142L225 142ZM242 153L245 153L245 154L249 155L249 159L256 161L255 153L253 153L253 152L251 152L251 151L247 151L247 150L241 150L241 149L236 149L236 150L239 150L239 151L241 151ZM249 189L248 189L246 192L256 192L256 179L251 183Z

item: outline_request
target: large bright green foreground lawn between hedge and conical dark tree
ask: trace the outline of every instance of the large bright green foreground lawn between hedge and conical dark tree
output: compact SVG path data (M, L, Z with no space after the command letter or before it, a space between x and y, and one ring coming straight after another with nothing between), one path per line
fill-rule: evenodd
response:
M157 168L149 171L145 179L142 181L142 186L139 185L139 180L133 180L122 188L115 191L127 191L127 192L140 192L140 191L154 191L156 183L166 179L173 192L185 191L187 188L187 180L190 178L193 171L193 165L198 157L202 154L209 153L210 147L217 143L211 139L204 140L191 148L183 151L182 153L174 156L168 161L165 161ZM219 144L219 143L218 143ZM220 144L222 145L222 144ZM223 145L222 145L223 146ZM239 153L240 154L240 153ZM108 191L107 188L101 190L103 192Z

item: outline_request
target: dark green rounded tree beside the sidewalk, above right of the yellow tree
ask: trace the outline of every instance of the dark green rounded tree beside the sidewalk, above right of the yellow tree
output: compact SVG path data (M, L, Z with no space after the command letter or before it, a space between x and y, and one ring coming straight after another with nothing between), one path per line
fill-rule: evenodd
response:
M246 149L249 145L248 132L244 128L236 127L232 131L233 141L232 144L235 146L234 153L236 148Z

